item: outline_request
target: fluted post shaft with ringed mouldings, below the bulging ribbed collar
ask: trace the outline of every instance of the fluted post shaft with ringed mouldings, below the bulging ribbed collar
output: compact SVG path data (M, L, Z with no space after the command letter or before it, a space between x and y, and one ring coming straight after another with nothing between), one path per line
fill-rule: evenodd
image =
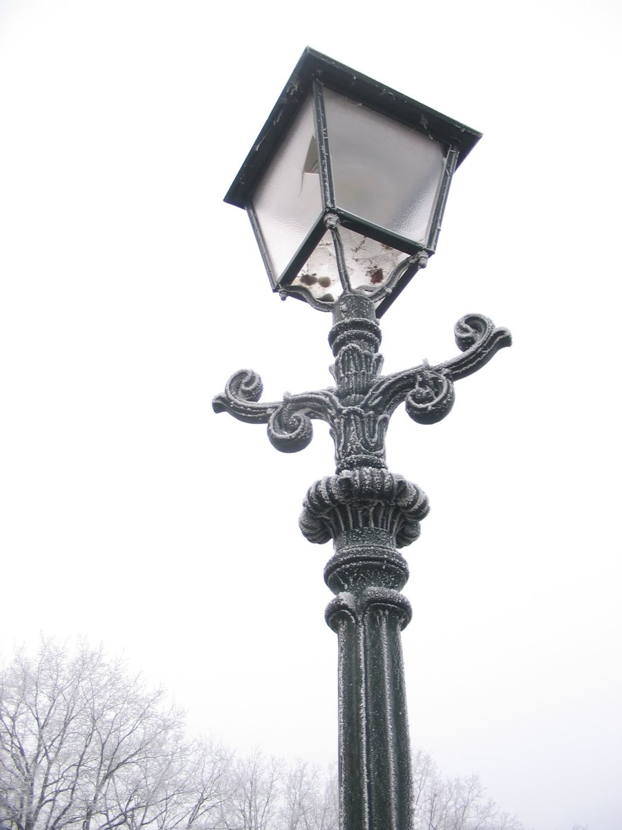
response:
M411 757L399 593L406 561L386 531L345 531L325 572L326 610L339 638L339 801L343 830L411 826Z

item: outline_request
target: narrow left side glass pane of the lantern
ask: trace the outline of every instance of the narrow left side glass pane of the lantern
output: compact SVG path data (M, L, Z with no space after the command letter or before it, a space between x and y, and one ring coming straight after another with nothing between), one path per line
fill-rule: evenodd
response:
M278 280L322 212L310 97L270 162L252 203Z

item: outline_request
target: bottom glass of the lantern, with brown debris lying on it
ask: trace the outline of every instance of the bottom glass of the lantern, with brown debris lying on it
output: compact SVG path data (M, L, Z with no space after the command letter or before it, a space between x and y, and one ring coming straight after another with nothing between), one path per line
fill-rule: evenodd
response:
M383 285L396 265L409 256L345 227L340 226L339 233L352 288L367 286L372 290ZM330 231L323 235L292 285L304 286L316 300L333 302L341 295L343 288Z

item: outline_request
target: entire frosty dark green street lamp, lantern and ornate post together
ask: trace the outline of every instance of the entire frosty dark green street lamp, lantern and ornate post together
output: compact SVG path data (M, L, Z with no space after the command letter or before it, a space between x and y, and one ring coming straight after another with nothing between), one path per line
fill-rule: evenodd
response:
M216 413L267 424L281 452L309 445L313 418L328 422L333 476L304 499L300 529L333 540L324 579L338 634L339 813L343 830L411 826L411 762L401 630L399 549L420 532L428 501L386 468L391 414L406 403L419 423L445 417L454 381L511 344L483 315L455 325L460 354L382 376L377 323L435 252L449 183L479 139L474 130L304 51L226 201L244 207L274 291L331 311L335 386L261 403L261 380L236 372Z

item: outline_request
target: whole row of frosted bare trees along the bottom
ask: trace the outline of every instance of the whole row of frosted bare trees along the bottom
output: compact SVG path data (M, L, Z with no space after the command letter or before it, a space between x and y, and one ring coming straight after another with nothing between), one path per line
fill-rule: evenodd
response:
M476 776L414 765L414 830L522 830ZM183 715L101 649L43 642L0 672L2 830L338 830L337 777L188 740Z

